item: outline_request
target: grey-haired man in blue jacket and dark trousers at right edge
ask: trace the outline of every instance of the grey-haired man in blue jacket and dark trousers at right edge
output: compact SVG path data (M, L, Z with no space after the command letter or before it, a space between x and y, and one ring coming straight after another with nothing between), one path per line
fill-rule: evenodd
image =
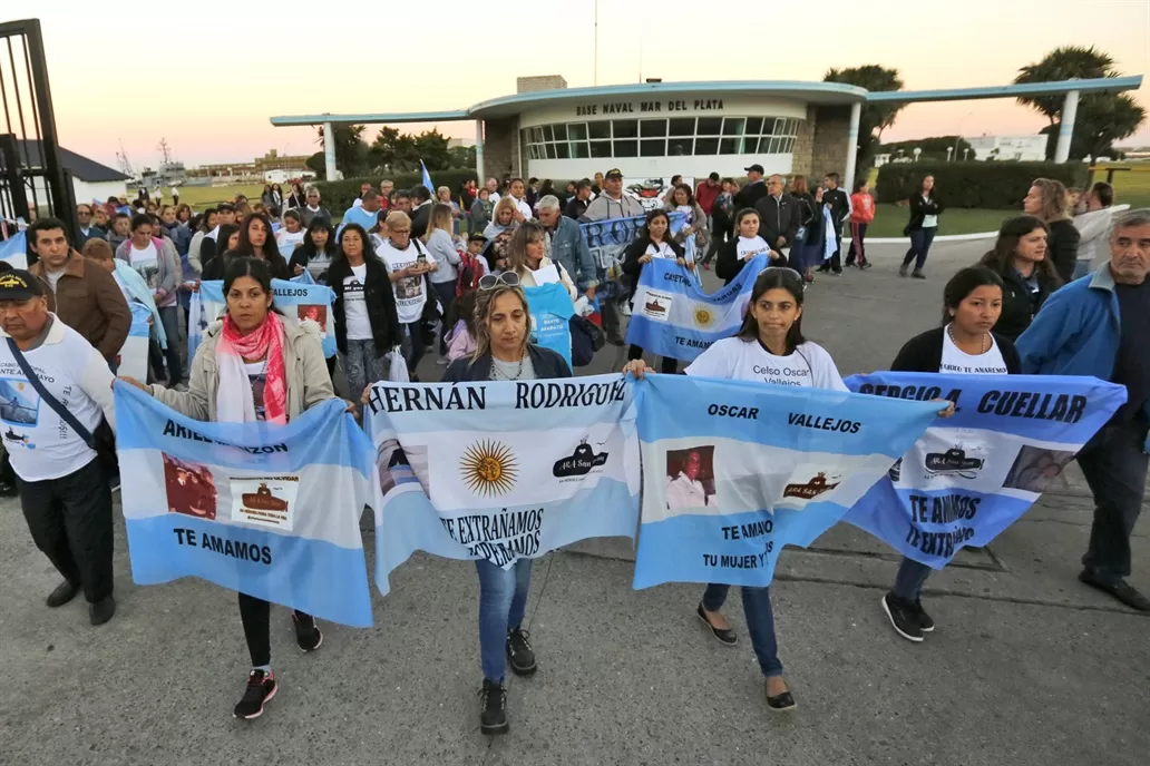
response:
M1130 533L1145 497L1150 441L1150 209L1114 219L1110 261L1055 292L1015 341L1022 372L1094 376L1126 387L1126 403L1079 452L1094 526L1079 580L1150 612L1126 582Z

